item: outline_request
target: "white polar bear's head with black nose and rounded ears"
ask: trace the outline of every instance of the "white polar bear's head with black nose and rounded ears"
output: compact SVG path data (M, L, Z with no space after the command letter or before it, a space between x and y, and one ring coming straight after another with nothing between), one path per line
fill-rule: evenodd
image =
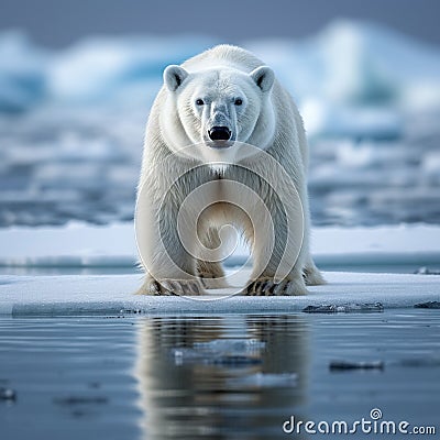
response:
M249 143L264 150L275 132L274 81L267 66L249 74L230 67L197 72L166 67L162 125L167 144L173 150L201 144L227 151L235 143Z

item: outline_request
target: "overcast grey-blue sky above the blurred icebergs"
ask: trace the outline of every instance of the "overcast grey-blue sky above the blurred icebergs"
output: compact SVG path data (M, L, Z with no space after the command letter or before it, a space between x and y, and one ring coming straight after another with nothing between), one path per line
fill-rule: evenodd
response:
M0 30L23 29L53 47L94 34L301 37L337 18L384 23L440 45L440 0L0 0Z

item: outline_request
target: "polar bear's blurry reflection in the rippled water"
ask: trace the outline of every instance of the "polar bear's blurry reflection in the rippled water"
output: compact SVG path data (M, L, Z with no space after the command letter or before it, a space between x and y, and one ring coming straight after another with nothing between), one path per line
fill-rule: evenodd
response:
M283 422L306 406L307 342L300 316L145 319L144 440L286 438Z

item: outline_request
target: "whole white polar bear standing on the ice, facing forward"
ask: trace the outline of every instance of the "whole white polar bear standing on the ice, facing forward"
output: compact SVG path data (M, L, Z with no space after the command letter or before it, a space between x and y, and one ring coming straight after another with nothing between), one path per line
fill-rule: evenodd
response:
M163 77L138 189L146 272L139 293L223 286L224 224L250 244L253 270L242 294L305 295L306 284L323 284L309 253L302 120L274 72L243 48L219 45Z

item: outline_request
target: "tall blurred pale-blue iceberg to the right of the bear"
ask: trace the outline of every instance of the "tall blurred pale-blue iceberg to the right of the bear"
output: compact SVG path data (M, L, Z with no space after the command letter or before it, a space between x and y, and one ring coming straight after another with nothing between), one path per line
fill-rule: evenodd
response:
M411 106L417 90L429 87L431 97L418 103L439 105L439 48L378 24L338 20L305 41L266 38L245 46L275 68L300 102L319 97L352 106Z

